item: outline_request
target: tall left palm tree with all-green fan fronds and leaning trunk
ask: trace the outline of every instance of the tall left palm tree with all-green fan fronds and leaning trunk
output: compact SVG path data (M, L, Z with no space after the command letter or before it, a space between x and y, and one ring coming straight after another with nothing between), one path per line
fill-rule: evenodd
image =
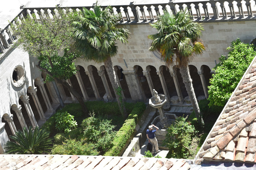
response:
M128 30L117 28L121 15L115 15L111 6L101 8L95 5L94 11L83 8L72 23L76 48L82 54L84 60L94 60L96 63L104 63L110 82L117 98L121 113L126 116L126 109L120 94L117 93L117 76L113 68L111 57L117 54L116 41L128 43Z

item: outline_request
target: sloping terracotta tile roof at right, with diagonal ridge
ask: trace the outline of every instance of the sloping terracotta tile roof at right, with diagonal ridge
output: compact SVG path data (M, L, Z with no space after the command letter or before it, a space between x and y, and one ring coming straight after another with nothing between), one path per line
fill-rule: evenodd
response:
M253 59L197 158L255 163L256 62Z

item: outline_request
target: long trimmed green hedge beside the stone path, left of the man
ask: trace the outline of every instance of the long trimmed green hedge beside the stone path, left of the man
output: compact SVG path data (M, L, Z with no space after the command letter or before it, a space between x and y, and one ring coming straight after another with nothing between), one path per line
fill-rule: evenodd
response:
M131 114L128 116L127 120L125 120L125 123L114 137L112 142L113 147L104 154L105 156L118 156L118 154L120 154L120 151L125 146L127 140L135 132L136 123L142 116L145 109L146 105L143 102L138 102L135 104Z

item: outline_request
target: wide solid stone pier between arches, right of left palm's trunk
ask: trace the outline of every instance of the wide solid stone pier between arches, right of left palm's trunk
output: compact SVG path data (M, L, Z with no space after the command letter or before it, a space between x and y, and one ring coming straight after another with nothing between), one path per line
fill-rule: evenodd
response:
M123 74L125 76L132 100L145 101L146 96L141 84L139 83L139 78L138 75L135 73L135 70L123 71Z

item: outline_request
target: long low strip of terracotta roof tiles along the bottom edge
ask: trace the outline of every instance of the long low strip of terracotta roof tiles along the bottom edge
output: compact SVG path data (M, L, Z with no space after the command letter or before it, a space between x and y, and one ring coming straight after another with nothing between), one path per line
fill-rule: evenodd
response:
M188 170L184 159L77 155L0 155L0 170Z

